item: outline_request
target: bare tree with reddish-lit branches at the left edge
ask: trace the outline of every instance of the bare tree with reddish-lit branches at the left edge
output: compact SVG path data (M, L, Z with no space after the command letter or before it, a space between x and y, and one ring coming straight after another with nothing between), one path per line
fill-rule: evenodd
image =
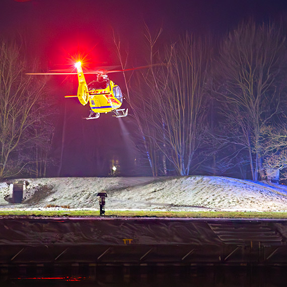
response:
M0 42L0 179L34 170L47 159L47 104L43 101L45 81L25 75L25 59L16 43ZM30 67L33 68L33 67ZM49 129L51 130L51 129ZM48 133L48 134L47 134ZM45 144L43 145L43 142ZM42 148L40 148L42 147ZM37 155L35 153L37 152ZM32 164L32 165L31 165ZM34 167L32 167L34 165ZM44 171L41 170L41 174Z

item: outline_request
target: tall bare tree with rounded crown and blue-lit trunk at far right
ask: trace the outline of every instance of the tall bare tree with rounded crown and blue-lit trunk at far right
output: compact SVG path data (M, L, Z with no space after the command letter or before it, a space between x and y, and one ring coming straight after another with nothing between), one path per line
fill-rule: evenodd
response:
M283 33L275 24L242 23L221 46L216 74L225 103L222 113L234 123L232 140L247 152L252 179L262 176L260 129L280 111L284 62Z

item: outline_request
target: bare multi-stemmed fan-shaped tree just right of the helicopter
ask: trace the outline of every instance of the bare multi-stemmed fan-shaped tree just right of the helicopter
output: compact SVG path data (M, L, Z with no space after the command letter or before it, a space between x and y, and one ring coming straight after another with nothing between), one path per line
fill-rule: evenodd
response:
M146 37L152 68L142 75L141 96L134 112L140 115L152 151L164 155L163 170L166 158L178 175L188 175L200 163L209 51L205 43L186 34L178 43L158 52L154 50L157 37L149 31Z

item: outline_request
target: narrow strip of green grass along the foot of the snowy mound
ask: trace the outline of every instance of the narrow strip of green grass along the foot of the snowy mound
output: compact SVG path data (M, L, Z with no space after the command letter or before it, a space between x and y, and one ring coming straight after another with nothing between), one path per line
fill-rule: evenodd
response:
M99 217L95 210L0 210L0 216L35 217ZM287 219L287 212L241 212L241 211L112 211L106 217L152 217L152 218L227 218L227 219Z

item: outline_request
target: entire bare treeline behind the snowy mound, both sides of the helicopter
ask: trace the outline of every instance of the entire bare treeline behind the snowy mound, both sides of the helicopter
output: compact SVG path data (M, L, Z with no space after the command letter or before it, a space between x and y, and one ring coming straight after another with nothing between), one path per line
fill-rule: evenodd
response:
M280 170L286 177L284 28L250 20L221 40L186 33L165 45L162 30L146 29L150 67L124 74L136 126L136 161L129 175L257 181ZM128 54L119 40L115 44L125 68ZM0 43L0 179L43 177L50 163L59 162L49 153L57 119L53 93L45 77L25 74L38 66L31 66L21 49Z

